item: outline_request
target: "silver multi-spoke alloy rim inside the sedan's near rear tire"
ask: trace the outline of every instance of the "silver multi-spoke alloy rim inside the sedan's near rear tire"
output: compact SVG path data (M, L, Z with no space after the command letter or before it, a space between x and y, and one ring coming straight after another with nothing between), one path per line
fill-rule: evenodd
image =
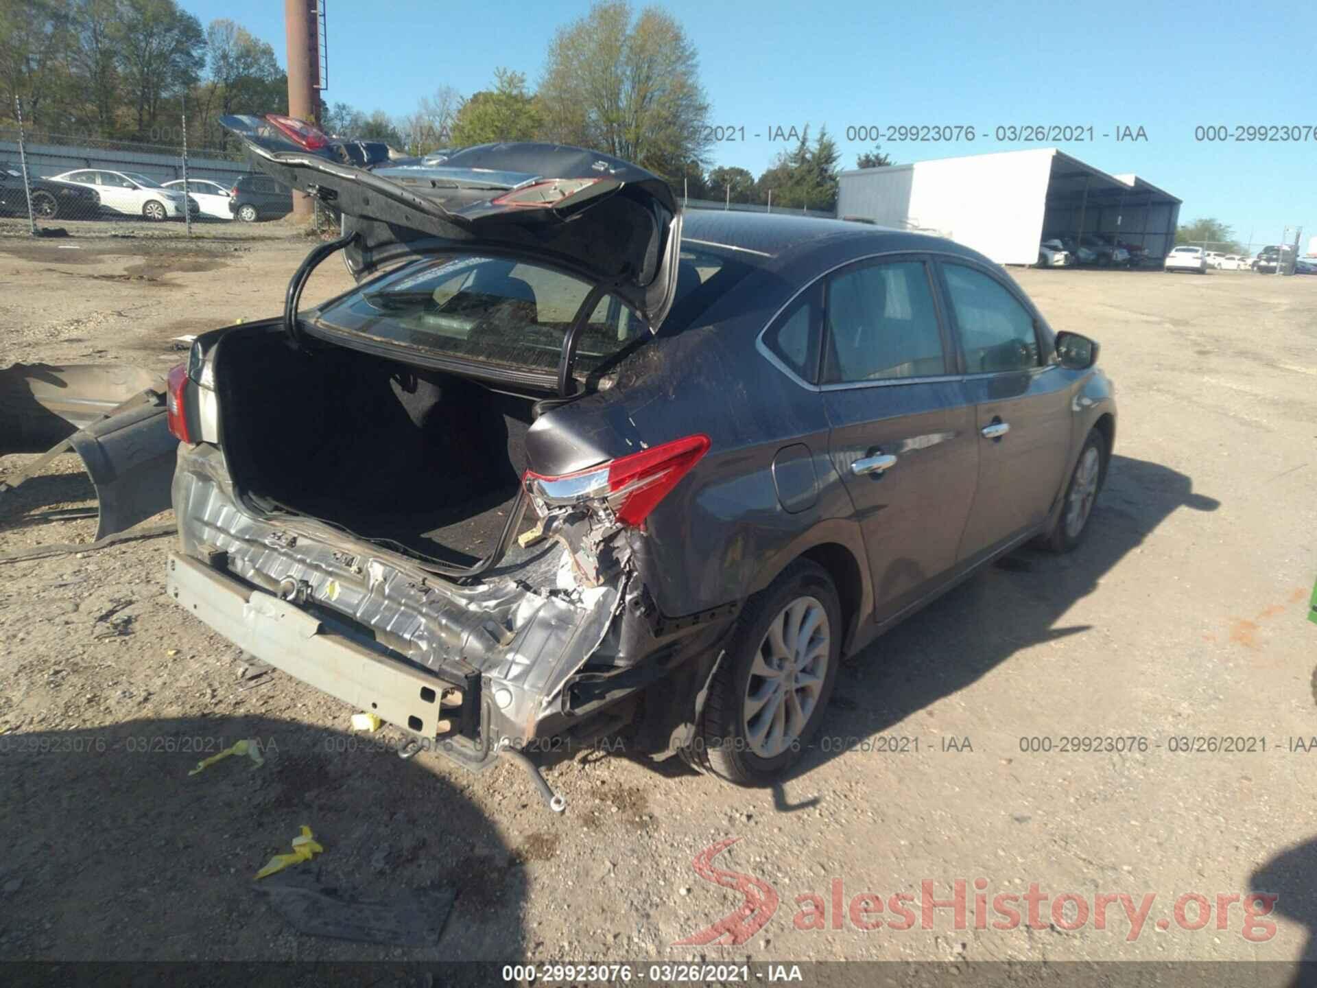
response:
M749 750L788 751L818 710L831 655L827 610L815 597L792 601L768 626L745 682L741 719Z

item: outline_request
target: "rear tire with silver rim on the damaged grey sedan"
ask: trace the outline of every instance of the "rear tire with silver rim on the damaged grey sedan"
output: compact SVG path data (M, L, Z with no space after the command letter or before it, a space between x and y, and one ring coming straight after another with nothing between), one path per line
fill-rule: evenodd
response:
M844 634L827 570L809 560L788 566L738 619L710 686L695 757L736 785L785 775L823 722Z

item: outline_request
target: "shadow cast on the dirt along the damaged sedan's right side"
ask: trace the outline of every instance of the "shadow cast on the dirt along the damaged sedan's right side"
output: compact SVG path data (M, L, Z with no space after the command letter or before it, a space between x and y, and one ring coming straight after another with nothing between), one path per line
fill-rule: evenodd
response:
M1088 632L1090 626L1056 622L1171 514L1218 506L1183 473L1113 456L1092 528L1075 552L1017 551L843 664L830 717L792 777L964 689L1022 648Z

